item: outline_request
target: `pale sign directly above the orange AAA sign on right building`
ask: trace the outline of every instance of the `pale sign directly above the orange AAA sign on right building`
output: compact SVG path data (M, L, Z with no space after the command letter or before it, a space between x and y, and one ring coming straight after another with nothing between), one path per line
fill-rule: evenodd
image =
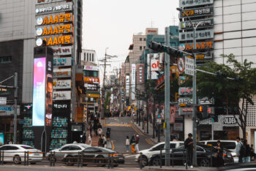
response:
M179 41L193 40L193 31L179 33ZM195 33L195 39L213 39L214 30L200 30Z

